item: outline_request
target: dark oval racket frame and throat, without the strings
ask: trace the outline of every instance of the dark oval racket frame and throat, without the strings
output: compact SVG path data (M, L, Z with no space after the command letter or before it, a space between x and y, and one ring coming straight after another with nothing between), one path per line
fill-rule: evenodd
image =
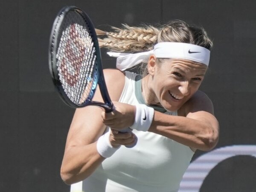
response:
M91 35L91 38L92 38L92 41L94 44L94 48L96 49L96 51L95 51L95 54L96 54L95 66L98 67L98 73L99 73L99 79L98 79L97 84L99 85L99 90L101 92L102 99L103 99L104 103L98 102L98 101L92 101L92 100L90 100L88 102L84 102L82 105L77 105L77 104L73 103L72 101L70 101L70 99L64 92L61 81L59 79L58 70L56 67L56 64L57 64L57 58L56 58L57 49L56 49L56 47L58 46L58 37L59 37L59 35L61 35L61 32L59 31L59 29L61 27L62 21L64 20L65 15L67 15L67 13L70 11L74 11L77 14L79 14L81 17L83 17L84 21L87 23L88 29L90 30L90 35ZM68 106L70 106L72 108L82 108L87 105L96 105L96 106L104 108L107 113L113 111L114 106L113 106L113 103L108 94L107 86L105 83L98 38L97 38L97 35L95 32L93 23L90 20L90 17L83 10L79 9L76 6L66 6L58 12L58 16L54 20L54 23L52 26L52 31L50 34L49 53L48 54L49 54L48 55L49 70L50 70L50 73L52 76L53 84L55 85L55 88L59 93L58 95L60 96L60 98L62 99L62 101L65 104L67 104Z

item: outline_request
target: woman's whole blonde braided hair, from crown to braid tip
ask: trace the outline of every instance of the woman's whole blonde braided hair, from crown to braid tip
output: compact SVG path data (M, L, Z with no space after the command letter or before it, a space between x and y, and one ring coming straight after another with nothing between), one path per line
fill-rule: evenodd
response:
M207 32L202 27L189 25L182 20L172 20L158 27L123 24L122 28L112 27L112 29L113 32L96 29L99 46L106 47L110 51L143 52L153 49L154 45L160 42L189 43L209 50L213 46ZM157 58L159 63L162 60L162 58ZM143 74L147 73L145 67L141 66L141 70Z

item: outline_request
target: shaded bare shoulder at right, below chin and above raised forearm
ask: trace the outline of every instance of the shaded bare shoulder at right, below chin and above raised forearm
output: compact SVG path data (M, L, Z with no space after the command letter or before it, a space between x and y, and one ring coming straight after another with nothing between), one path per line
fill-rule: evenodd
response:
M214 114L213 104L206 93L198 90L179 110L179 114L186 116L188 113L206 111Z

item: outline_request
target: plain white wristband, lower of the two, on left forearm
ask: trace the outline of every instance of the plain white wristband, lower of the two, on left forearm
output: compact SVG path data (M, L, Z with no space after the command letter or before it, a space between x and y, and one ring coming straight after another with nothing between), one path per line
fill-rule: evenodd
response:
M105 157L105 158L111 157L116 152L116 150L120 148L120 146L113 147L110 144L109 134L110 134L110 131L100 136L97 141L97 151L102 157Z

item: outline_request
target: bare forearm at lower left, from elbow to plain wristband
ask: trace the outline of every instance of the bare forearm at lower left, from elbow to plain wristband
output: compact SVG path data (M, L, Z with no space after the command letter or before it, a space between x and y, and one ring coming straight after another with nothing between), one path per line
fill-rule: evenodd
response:
M97 149L96 142L72 146L66 149L61 165L61 178L67 184L77 183L90 176L105 160Z

